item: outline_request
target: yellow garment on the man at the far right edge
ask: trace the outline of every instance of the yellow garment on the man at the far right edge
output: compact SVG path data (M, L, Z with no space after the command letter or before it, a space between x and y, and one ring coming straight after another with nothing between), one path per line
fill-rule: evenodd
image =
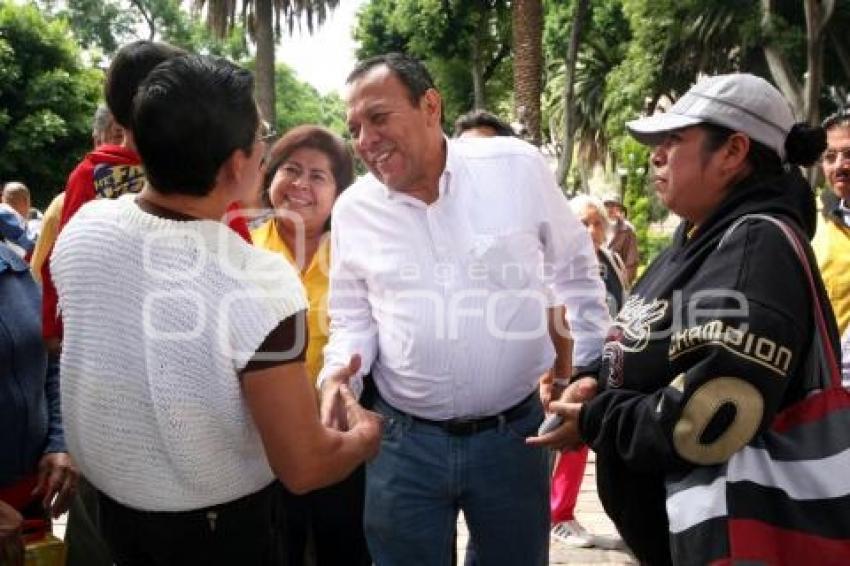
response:
M850 325L850 228L826 221L818 214L818 229L812 239L826 293L835 311L838 332Z

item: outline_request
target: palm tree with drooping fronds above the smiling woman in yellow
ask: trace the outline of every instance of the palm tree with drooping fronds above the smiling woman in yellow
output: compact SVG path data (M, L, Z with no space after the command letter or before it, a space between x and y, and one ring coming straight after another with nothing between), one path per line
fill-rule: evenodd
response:
M274 48L280 38L281 19L292 32L301 23L310 33L324 23L328 9L336 8L339 0L242 0L237 15L237 0L192 0L193 9L206 9L206 21L219 37L224 37L241 20L248 36L257 45L256 80L257 104L263 117L275 123Z

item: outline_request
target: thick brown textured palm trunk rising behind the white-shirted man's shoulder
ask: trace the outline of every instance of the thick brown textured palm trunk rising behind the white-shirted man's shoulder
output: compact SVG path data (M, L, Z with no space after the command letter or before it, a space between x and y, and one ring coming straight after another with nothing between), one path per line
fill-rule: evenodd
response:
M540 96L543 90L543 2L514 0L511 6L514 48L514 112L529 141L540 145Z

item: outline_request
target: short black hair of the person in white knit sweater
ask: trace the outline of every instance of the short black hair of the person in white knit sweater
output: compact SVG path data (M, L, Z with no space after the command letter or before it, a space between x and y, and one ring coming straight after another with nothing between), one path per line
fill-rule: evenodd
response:
M208 194L234 151L251 154L259 122L253 76L218 57L162 63L133 101L136 149L161 193Z

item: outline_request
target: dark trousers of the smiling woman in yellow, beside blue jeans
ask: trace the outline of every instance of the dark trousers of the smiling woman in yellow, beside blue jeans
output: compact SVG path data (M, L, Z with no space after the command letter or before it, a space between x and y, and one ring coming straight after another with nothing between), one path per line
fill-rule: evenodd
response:
M284 487L283 493L286 566L372 564L363 534L363 466L324 489L295 495Z

